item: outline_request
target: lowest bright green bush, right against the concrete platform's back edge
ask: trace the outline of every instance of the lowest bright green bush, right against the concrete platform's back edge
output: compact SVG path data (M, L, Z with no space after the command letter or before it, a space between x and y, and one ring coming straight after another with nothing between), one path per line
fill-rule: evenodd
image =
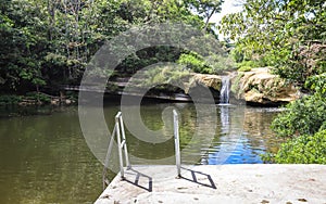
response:
M326 130L303 135L281 144L275 162L285 164L326 164Z

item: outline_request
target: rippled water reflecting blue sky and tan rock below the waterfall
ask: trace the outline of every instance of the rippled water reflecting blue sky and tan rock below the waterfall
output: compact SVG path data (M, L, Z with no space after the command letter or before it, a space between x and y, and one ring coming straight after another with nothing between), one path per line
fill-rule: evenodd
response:
M269 129L273 117L281 110L220 105L220 140L201 164L259 164L266 151L276 152L280 138ZM218 132L217 132L218 135Z

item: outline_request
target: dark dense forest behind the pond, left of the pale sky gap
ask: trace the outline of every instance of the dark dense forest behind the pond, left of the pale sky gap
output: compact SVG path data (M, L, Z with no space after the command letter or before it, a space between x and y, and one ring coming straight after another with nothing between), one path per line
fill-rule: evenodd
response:
M60 85L78 85L87 63L99 48L133 26L183 22L215 35L214 25L209 20L221 11L223 2L1 1L0 84L1 91L5 93L55 90ZM122 62L117 72L120 75L133 74L155 62L176 62L181 54L183 51L173 48L149 48ZM196 61L197 56L183 55L183 59Z

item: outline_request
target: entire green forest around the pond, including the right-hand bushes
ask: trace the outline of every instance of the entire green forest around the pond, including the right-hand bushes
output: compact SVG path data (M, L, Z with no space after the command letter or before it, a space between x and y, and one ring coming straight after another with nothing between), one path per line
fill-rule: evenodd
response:
M273 123L288 138L277 163L326 164L326 3L323 0L243 0L243 10L211 17L223 0L1 0L0 85L10 94L50 92L78 85L96 51L133 26L183 22L218 38L220 63L198 53L158 47L123 61L116 75L128 76L156 62L180 62L193 72L215 74L216 66L271 66L274 74L305 94L287 105ZM234 49L229 49L233 41ZM223 67L221 67L223 68ZM58 93L54 93L58 94ZM11 98L12 100L12 98Z

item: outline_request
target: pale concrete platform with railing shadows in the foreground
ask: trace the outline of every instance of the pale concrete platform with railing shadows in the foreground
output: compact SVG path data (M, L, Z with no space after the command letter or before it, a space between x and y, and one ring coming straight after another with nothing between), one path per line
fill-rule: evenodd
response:
M326 165L133 166L117 175L96 204L326 204Z

